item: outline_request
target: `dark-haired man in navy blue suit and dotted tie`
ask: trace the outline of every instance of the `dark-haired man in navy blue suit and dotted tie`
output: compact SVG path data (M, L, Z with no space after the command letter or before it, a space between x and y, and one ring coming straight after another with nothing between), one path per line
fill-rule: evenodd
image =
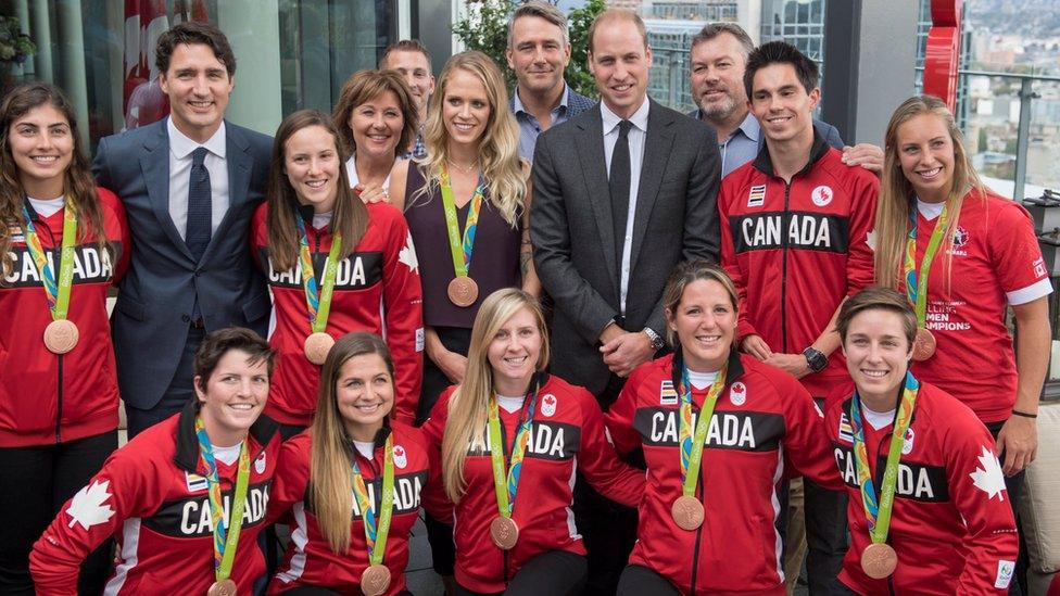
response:
M206 332L235 325L264 334L269 313L248 228L273 143L224 121L231 47L216 27L190 22L162 34L155 53L169 117L102 139L92 163L132 234L112 318L129 438L193 397Z

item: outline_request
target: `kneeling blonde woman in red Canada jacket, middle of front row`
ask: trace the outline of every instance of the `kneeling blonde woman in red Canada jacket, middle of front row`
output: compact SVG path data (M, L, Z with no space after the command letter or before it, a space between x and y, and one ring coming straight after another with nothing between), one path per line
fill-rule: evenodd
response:
M457 594L577 594L586 563L576 472L618 503L640 500L644 475L615 455L595 397L547 365L537 299L499 290L475 318L464 381L424 426L455 504Z

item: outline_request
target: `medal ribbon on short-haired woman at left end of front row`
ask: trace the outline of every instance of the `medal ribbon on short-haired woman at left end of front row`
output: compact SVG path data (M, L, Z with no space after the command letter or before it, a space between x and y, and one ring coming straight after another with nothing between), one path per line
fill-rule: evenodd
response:
M243 528L243 507L247 504L247 487L250 481L250 445L243 440L239 449L239 469L236 472L236 487L232 491L231 511L228 527L225 528L225 502L220 495L220 478L217 461L210 445L210 436L202 426L202 418L195 417L195 436L199 438L199 455L206 466L206 482L210 485L210 521L214 528L214 576L223 582L231 575L239 532Z

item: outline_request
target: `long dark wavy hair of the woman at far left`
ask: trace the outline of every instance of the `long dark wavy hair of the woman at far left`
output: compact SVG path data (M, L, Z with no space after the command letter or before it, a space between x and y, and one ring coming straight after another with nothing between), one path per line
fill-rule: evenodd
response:
M26 191L22 188L18 177L18 166L11 154L11 126L15 121L41 105L51 105L66 118L70 134L74 139L74 149L70 166L63 181L63 191L73 202L77 214L77 231L79 239L94 239L100 251L111 249L103 227L103 210L100 207L99 196L96 194L96 181L89 169L88 157L81 145L81 137L77 130L77 114L73 105L58 87L47 83L25 83L8 92L0 103L0 278L7 277L14 266L11 259L11 228L25 225L22 207ZM40 199L52 199L40 196ZM127 250L127 249L126 249ZM113 264L115 253L110 251Z

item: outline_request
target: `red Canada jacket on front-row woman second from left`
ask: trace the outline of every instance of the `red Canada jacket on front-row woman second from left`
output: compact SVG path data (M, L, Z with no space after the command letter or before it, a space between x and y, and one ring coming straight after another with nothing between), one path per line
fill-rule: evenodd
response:
M364 474L373 503L373 510L381 502L383 445L393 434L394 505L387 549L382 563L390 568L388 596L405 589L405 567L408 566L408 534L419 512L420 493L432 482L428 464L428 447L418 429L401 422L391 422L376 436L374 457L365 459L358 452L361 473ZM320 533L317 518L310 502L310 456L313 439L308 431L283 444L280 462L269 500L269 519L274 520L290 511L291 544L287 561L269 584L270 594L280 594L299 586L324 587L340 594L361 594L361 574L368 568L368 550L365 542L364 520L357 499L353 499L350 522L350 548L336 555ZM437 482L436 479L433 482Z

